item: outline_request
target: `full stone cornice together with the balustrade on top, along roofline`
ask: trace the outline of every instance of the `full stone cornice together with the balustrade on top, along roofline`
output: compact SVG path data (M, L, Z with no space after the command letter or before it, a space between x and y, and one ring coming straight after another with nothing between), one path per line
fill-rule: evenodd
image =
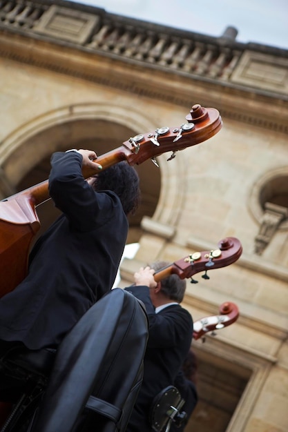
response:
M2 57L178 106L196 99L204 106L213 103L227 118L288 132L283 75L288 50L208 37L61 0L0 0L0 18ZM265 77L254 79L265 61ZM280 78L270 85L269 74Z

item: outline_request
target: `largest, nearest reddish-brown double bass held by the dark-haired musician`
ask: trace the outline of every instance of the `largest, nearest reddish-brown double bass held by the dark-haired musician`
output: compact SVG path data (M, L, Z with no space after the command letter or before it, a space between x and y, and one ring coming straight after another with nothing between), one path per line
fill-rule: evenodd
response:
M218 110L195 104L186 115L186 123L131 137L119 148L97 157L95 163L102 169L120 161L133 166L152 159L157 164L155 158L162 153L171 151L167 159L171 160L178 150L206 141L221 128ZM85 178L93 174L94 171L83 170ZM26 277L32 239L40 228L37 206L47 199L48 181L43 181L0 202L0 297L15 289Z

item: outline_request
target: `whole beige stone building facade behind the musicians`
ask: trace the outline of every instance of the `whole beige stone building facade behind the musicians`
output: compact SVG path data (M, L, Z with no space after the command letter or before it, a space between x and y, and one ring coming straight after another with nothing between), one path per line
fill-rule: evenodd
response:
M288 51L128 19L61 0L0 0L0 194L48 177L55 150L98 155L137 134L179 127L191 106L222 130L137 166L142 205L121 266L124 286L156 259L174 262L237 237L231 266L195 275L194 320L238 305L236 323L194 341L200 402L187 432L288 429ZM55 217L39 206L44 229Z

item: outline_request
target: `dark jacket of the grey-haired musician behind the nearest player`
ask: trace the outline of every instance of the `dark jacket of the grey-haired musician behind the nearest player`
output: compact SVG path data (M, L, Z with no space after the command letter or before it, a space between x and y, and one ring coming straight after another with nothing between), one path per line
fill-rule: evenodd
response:
M152 430L148 417L153 399L167 386L174 385L191 346L193 321L180 304L155 313L147 286L126 289L144 302L149 321L143 382L126 431L148 432Z

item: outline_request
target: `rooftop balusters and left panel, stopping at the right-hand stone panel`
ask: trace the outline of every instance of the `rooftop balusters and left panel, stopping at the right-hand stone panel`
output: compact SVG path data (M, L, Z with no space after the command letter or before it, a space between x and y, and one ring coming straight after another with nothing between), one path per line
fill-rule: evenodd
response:
M74 24L75 31L77 20L79 27L82 21L83 33L90 15L97 19L93 28L90 26L90 31L86 32L84 40L79 38L81 46L98 52L110 52L123 59L220 80L229 79L244 50L243 44L236 43L229 37L222 37L220 41L219 38L126 19L99 8L87 8L77 3L77 10L69 6L67 3L64 6L61 1L51 5L48 1L0 0L0 25L7 26L10 30L29 31L30 36L33 32L37 35L42 32L59 39L59 32L55 34L55 26L61 24L63 37L67 41L70 31L68 27ZM45 19L47 14L49 23ZM83 18L84 14L87 15L86 19ZM44 21L45 26L41 21ZM75 37L71 41L77 43Z

